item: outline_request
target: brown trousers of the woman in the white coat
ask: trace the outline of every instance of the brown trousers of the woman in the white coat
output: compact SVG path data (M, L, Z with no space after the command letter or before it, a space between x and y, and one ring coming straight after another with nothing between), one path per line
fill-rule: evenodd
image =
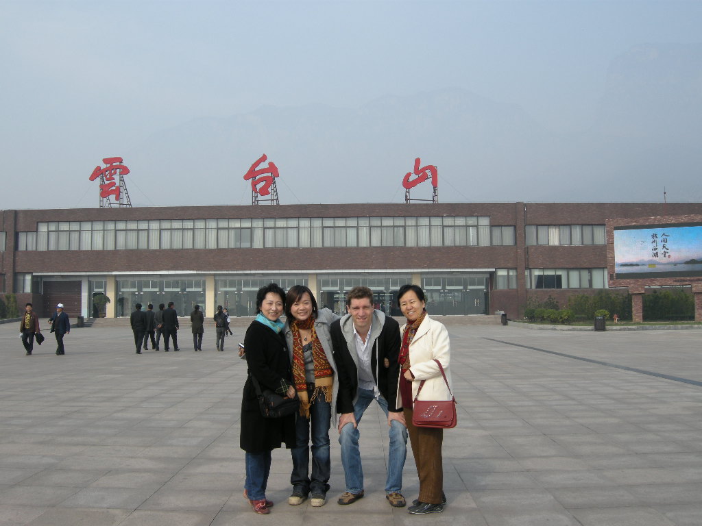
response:
M404 408L404 420L419 476L418 499L429 504L439 504L444 491L444 466L441 454L444 430L416 427L412 424L412 414L413 410Z

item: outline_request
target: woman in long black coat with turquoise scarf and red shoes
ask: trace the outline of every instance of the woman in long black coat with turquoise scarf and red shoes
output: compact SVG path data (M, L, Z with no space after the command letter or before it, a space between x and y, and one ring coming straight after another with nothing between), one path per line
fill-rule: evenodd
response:
M256 389L251 375L256 377L261 389L272 389L282 396L295 396L290 358L284 327L279 321L285 308L285 292L275 283L258 290L256 309L258 316L249 325L244 337L246 365L249 377L241 396L241 434L239 445L246 452L246 483L244 496L253 511L270 513L273 503L265 498L270 473L271 451L285 443L295 446L295 414L282 418L263 418L258 408Z

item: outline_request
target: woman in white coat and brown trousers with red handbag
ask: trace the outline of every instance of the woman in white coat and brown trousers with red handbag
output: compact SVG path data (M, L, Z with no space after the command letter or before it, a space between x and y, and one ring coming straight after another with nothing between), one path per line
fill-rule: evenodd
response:
M442 323L428 316L424 308L424 291L418 285L402 285L397 292L397 304L407 318L407 323L400 328L401 370L397 396L402 398L404 419L419 476L419 497L407 511L416 515L441 513L446 504L441 451L444 430L413 426L412 403L422 380L425 382L420 400L451 400L439 365L434 361L439 360L450 384L449 332ZM400 407L399 401L397 407Z

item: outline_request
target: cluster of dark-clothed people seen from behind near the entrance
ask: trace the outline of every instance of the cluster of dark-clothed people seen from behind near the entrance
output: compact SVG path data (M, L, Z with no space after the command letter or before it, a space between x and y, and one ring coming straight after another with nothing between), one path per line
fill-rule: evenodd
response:
M173 342L173 351L180 351L178 347L178 330L180 323L178 322L178 312L173 308L173 302L168 302L168 308L164 308L164 304L159 304L159 310L154 311L153 304L147 305L147 310L142 311L142 304L138 303L134 306L135 311L131 313L129 322L132 332L134 333L134 344L136 353L141 354L142 348L145 351L149 350L149 340L151 340L151 348L154 351L160 351L161 337L164 338L164 351L171 350L169 340ZM199 305L193 307L190 313L190 324L192 328L192 346L194 351L202 351L202 336L204 334L204 314L200 310ZM225 336L233 335L229 324L231 318L227 309L223 306L217 307L217 313L214 316L216 335L217 335L217 350L224 351Z

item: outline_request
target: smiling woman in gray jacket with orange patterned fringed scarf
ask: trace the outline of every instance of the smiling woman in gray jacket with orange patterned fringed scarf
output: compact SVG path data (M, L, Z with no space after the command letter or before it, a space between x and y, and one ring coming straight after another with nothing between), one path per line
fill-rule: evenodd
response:
M336 363L332 355L329 325L338 316L317 309L317 300L305 285L293 285L285 300L285 339L290 352L293 384L300 398L296 414L296 447L291 449L293 492L288 504L302 504L312 494L312 506L324 506L329 491L331 459L329 427L336 422ZM310 433L312 476L310 477Z

